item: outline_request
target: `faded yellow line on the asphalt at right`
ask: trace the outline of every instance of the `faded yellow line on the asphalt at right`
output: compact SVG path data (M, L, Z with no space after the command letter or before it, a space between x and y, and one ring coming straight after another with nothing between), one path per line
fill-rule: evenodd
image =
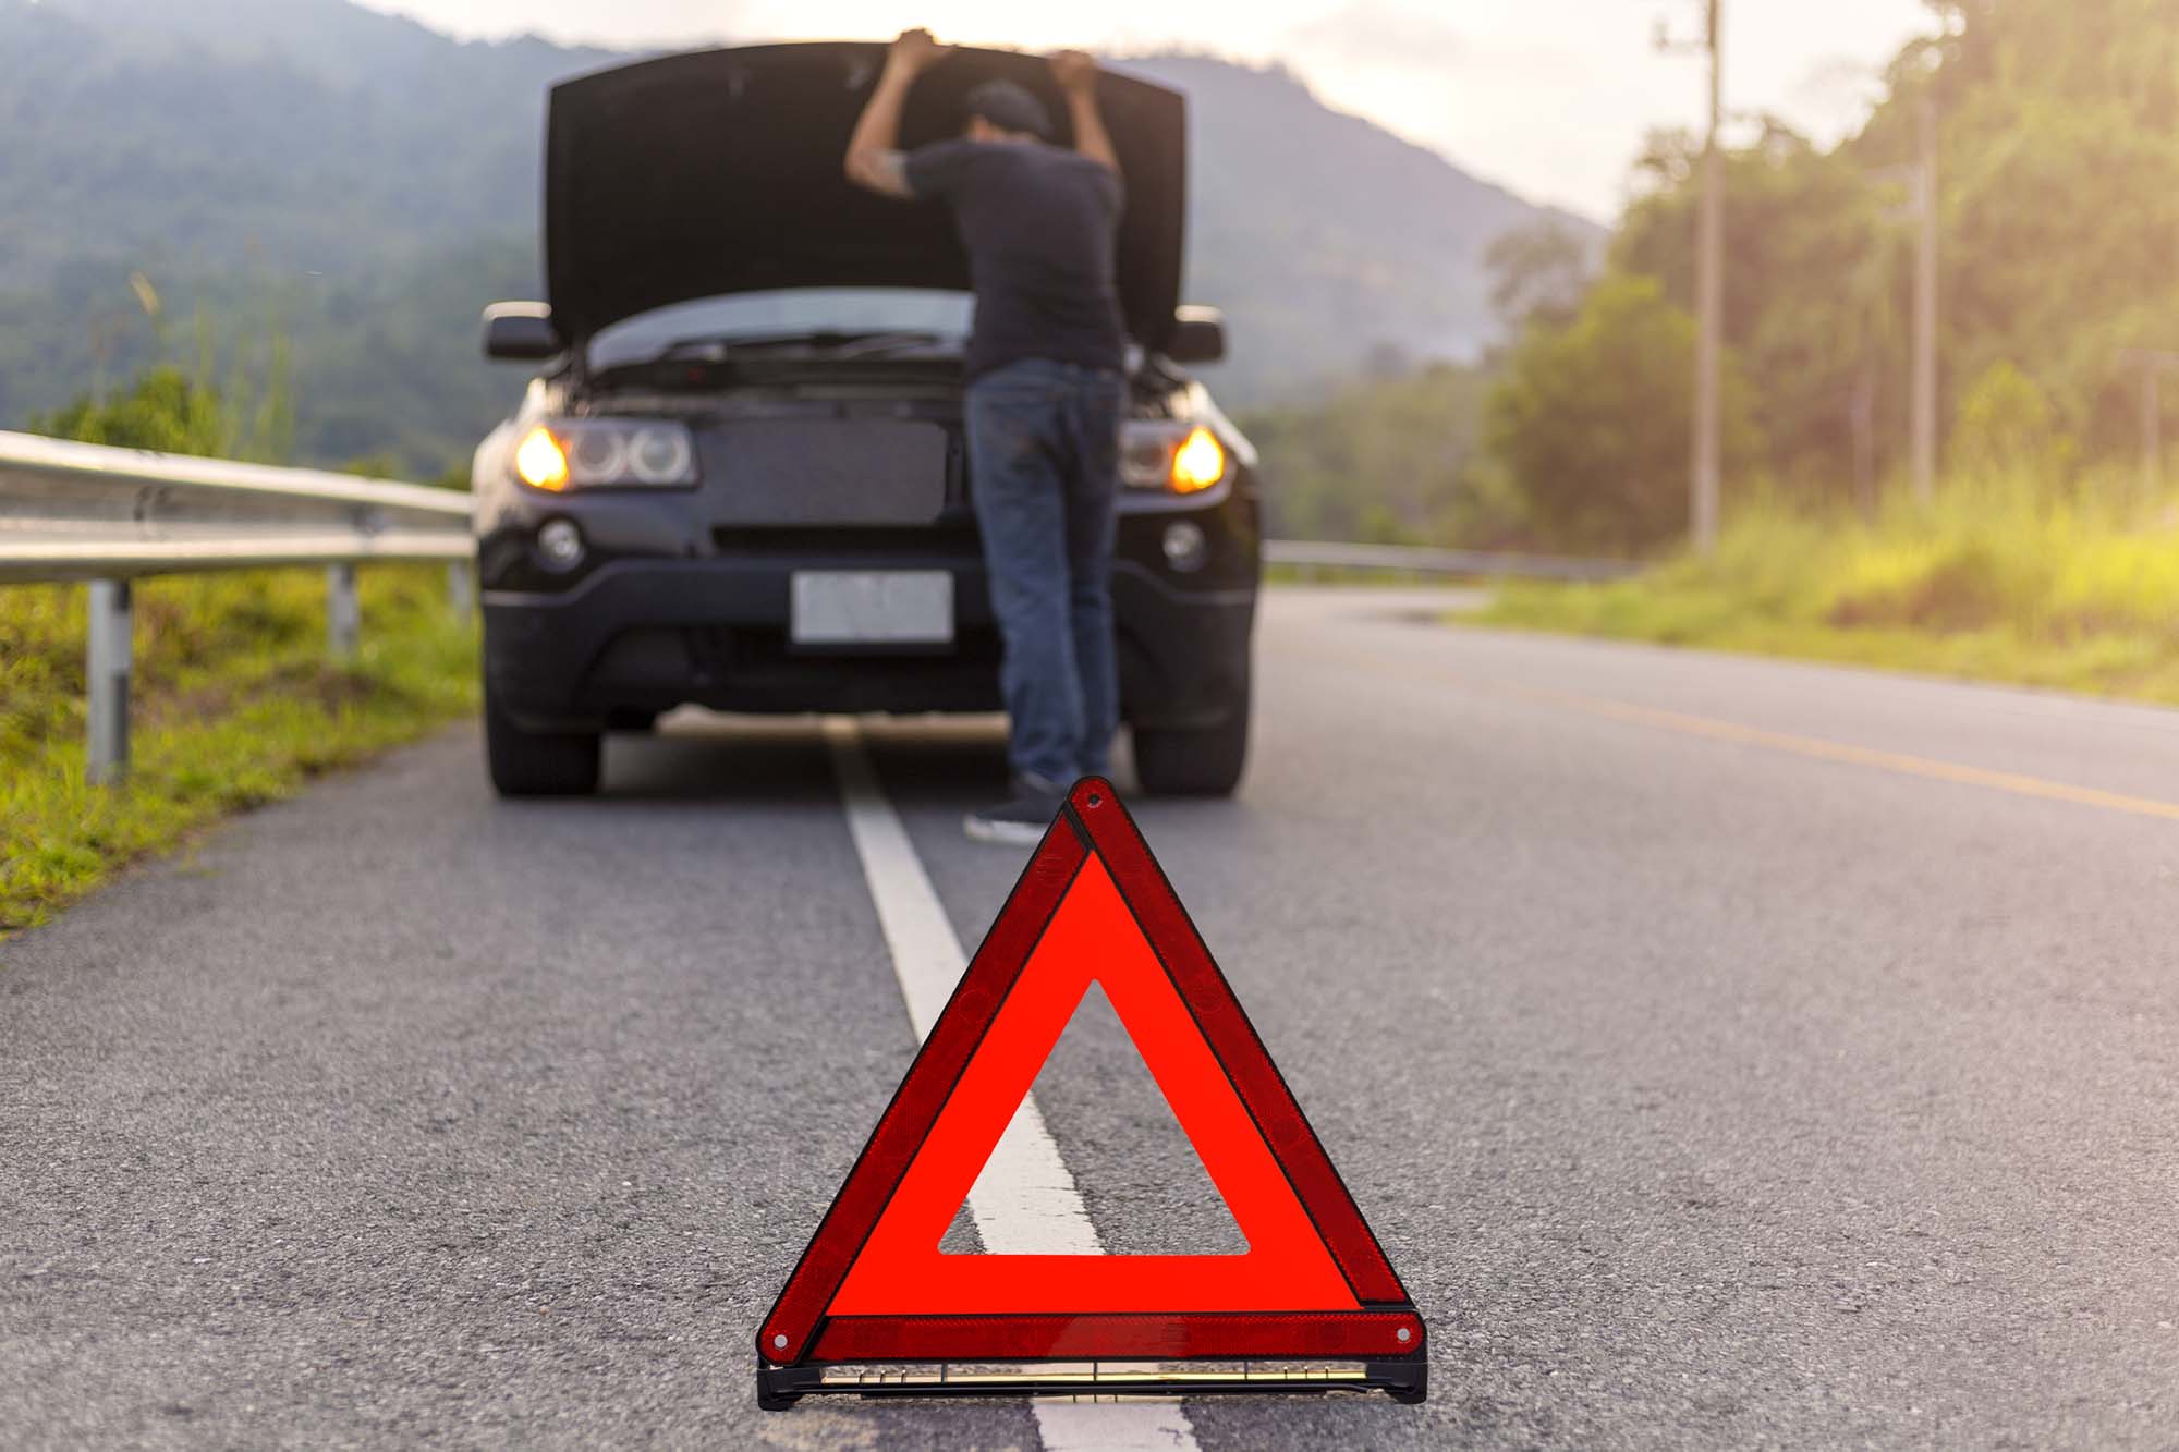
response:
M1687 711L1665 711L1658 706L1636 706L1632 702L1610 700L1604 695L1582 695L1578 691L1556 691L1551 687L1512 685L1504 680L1477 680L1475 676L1464 676L1460 671L1451 671L1445 667L1419 667L1403 661L1390 661L1386 656L1320 656L1316 652L1307 654L1334 665L1364 665L1397 676L1438 676L1473 691L1512 695L1519 700L1530 700L1547 706L1580 711L1582 715L1595 715L1606 722L1656 726L1658 730L1673 730L1687 737L1706 737L1711 741L1734 741L1739 746L1763 746L1774 752L1791 752L1793 757L1811 757L1815 761L1839 761L1846 765L1870 767L1876 772L1920 776L1924 781L1948 781L1963 787L1987 787L1992 791L2009 791L2013 796L2033 796L2046 802L2072 802L2074 807L2101 807L2103 811L2125 811L2135 818L2162 818L2166 822L2179 822L2179 802L2164 802L2153 796L2127 796L2125 791L2074 787L2064 781L2046 781L2042 776L2024 776L2020 772L1992 772L1989 767L1963 765L1959 761L1937 761L1935 757L1911 757L1907 752L1885 752L1870 746L1848 746L1846 741L1826 741L1824 737L1802 737L1791 730L1765 730L1763 726L1721 722L1711 715L1691 715Z

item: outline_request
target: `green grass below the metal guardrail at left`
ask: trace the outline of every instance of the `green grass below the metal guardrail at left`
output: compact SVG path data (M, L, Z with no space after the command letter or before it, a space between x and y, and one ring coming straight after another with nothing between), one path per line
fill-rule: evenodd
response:
M0 937L229 811L475 709L475 628L425 565L360 571L355 661L325 652L325 573L135 589L133 765L83 781L83 586L0 586Z

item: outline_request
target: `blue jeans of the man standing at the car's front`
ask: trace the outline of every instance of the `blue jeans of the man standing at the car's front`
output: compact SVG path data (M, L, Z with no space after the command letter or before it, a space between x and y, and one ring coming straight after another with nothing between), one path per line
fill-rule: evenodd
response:
M1111 539L1118 373L1026 358L967 386L967 460L1015 774L1103 776L1120 724Z

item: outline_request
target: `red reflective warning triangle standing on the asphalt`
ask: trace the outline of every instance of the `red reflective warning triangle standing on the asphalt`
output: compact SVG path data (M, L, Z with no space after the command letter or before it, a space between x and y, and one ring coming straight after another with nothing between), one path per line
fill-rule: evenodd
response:
M1246 1251L939 1249L1092 983ZM1068 794L756 1350L767 1404L832 1389L813 1374L826 1363L1046 1358L1403 1363L1371 1367L1384 1376L1366 1384L1421 1397L1421 1317L1111 783L1092 776Z

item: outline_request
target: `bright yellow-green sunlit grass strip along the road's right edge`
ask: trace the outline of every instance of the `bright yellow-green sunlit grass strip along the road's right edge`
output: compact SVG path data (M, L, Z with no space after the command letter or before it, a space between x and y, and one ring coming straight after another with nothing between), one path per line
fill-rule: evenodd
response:
M2179 704L2179 508L2127 493L1987 477L1874 521L1750 504L1708 560L1523 582L1462 619Z

